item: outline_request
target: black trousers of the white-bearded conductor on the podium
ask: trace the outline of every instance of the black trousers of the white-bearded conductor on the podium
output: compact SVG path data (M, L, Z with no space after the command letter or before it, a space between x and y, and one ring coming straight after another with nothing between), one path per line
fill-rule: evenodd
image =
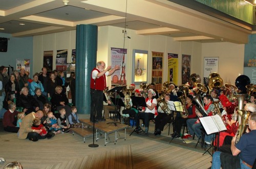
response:
M101 119L102 118L102 109L103 109L103 91L91 89L90 121L93 121L94 109L96 111L96 119Z

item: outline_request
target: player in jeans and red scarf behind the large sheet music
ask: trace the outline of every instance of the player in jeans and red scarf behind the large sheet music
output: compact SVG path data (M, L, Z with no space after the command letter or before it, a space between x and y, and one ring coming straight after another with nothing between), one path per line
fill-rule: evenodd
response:
M215 109L215 105L212 103L212 98L210 95L205 95L203 98L203 101L205 103L204 105L204 110L199 108L198 110L200 112L197 112L198 118L201 117L206 117L206 116L211 116L212 112ZM205 111L205 113L204 113ZM201 125L201 122L199 119L188 119L187 120L187 128L190 133L190 135L194 135L194 133L197 135L199 138L202 132L203 126ZM213 134L205 135L205 143L210 144L211 138L213 137Z

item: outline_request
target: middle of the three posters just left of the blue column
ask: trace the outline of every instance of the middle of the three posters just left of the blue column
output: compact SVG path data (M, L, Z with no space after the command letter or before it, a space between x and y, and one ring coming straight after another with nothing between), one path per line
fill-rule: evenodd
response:
M56 70L67 71L68 50L57 50Z

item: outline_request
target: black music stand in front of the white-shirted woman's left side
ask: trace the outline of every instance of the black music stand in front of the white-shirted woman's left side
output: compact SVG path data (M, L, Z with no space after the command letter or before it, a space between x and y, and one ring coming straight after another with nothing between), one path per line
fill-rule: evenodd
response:
M136 96L131 96L131 99L132 99L132 103L133 103L133 106L136 106L136 109L139 111L139 107L146 107L146 100L144 97L136 97ZM139 114L140 113L143 113L143 112L138 112L138 119L137 119L137 122L136 122L136 128L133 130L133 132L136 132L136 133L140 133L140 132L143 132L144 130L142 130L142 128L140 127L140 125L138 125L138 121L140 120L139 119ZM130 136L133 134L133 132L130 134Z

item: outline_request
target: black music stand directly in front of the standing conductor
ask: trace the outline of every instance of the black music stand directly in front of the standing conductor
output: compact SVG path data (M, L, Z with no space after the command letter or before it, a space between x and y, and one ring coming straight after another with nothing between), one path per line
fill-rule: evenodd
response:
M117 105L120 105L123 103L123 101L121 99L120 99L121 100L120 101L119 98L116 98L116 96L117 96L117 92L120 92L122 89L123 89L123 86L116 86L108 91L108 92L115 93L115 97L111 98L112 103L115 105L115 111L114 111L114 116L113 116L113 117L115 117L115 119L113 118L113 122L110 122L110 123L114 123L115 126L117 126L117 123L119 123L119 122L117 122L117 109L118 109ZM120 93L122 93L122 92L120 92ZM122 104L121 106L124 106L124 104ZM110 123L107 123L107 124L110 124Z

